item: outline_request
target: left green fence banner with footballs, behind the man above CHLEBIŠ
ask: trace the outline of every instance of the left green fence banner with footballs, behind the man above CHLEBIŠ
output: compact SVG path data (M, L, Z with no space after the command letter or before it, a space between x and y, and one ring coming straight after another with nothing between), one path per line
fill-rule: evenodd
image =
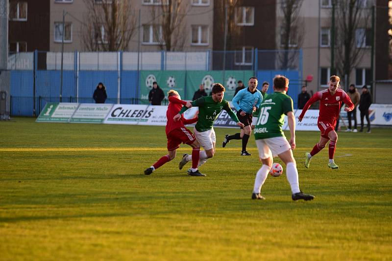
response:
M140 72L140 99L148 100L148 93L152 88L152 83L157 82L159 87L167 96L171 89L178 91L181 98L185 94L185 74L186 71L141 71Z

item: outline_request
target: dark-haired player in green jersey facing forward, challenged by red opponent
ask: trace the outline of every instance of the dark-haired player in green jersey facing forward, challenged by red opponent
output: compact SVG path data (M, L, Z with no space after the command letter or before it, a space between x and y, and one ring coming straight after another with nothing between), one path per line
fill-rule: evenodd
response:
M238 126L244 127L244 124L238 120L236 114L230 109L229 103L223 99L224 91L225 89L221 84L214 84L212 87L212 96L201 97L192 102L192 106L199 108L198 121L194 133L197 141L204 148L204 151L200 151L198 167L204 164L208 158L212 158L215 154L216 137L213 125L222 109L227 111ZM187 109L187 107L183 107L178 114L174 116L174 121L179 120L181 114ZM181 170L184 165L191 160L192 155L184 154L180 161L179 169Z

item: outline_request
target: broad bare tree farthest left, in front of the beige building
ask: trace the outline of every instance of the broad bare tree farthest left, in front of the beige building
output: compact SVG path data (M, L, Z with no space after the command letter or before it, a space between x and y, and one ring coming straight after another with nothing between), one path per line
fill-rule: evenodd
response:
M83 42L89 51L127 50L136 32L132 0L84 0Z

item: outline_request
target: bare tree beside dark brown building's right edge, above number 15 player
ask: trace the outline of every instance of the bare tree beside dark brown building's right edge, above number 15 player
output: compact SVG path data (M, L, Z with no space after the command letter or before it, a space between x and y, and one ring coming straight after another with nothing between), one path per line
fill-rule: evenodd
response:
M303 43L303 20L299 18L303 0L282 0L280 8L283 19L280 29L280 45L283 52L279 53L279 61L282 69L290 69L297 63L298 52L289 51L300 49Z

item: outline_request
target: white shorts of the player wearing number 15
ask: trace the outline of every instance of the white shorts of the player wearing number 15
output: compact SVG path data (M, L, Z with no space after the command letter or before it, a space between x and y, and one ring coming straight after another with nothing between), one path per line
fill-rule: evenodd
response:
M260 159L276 157L280 153L291 149L291 146L285 137L256 140L256 145L259 150Z

